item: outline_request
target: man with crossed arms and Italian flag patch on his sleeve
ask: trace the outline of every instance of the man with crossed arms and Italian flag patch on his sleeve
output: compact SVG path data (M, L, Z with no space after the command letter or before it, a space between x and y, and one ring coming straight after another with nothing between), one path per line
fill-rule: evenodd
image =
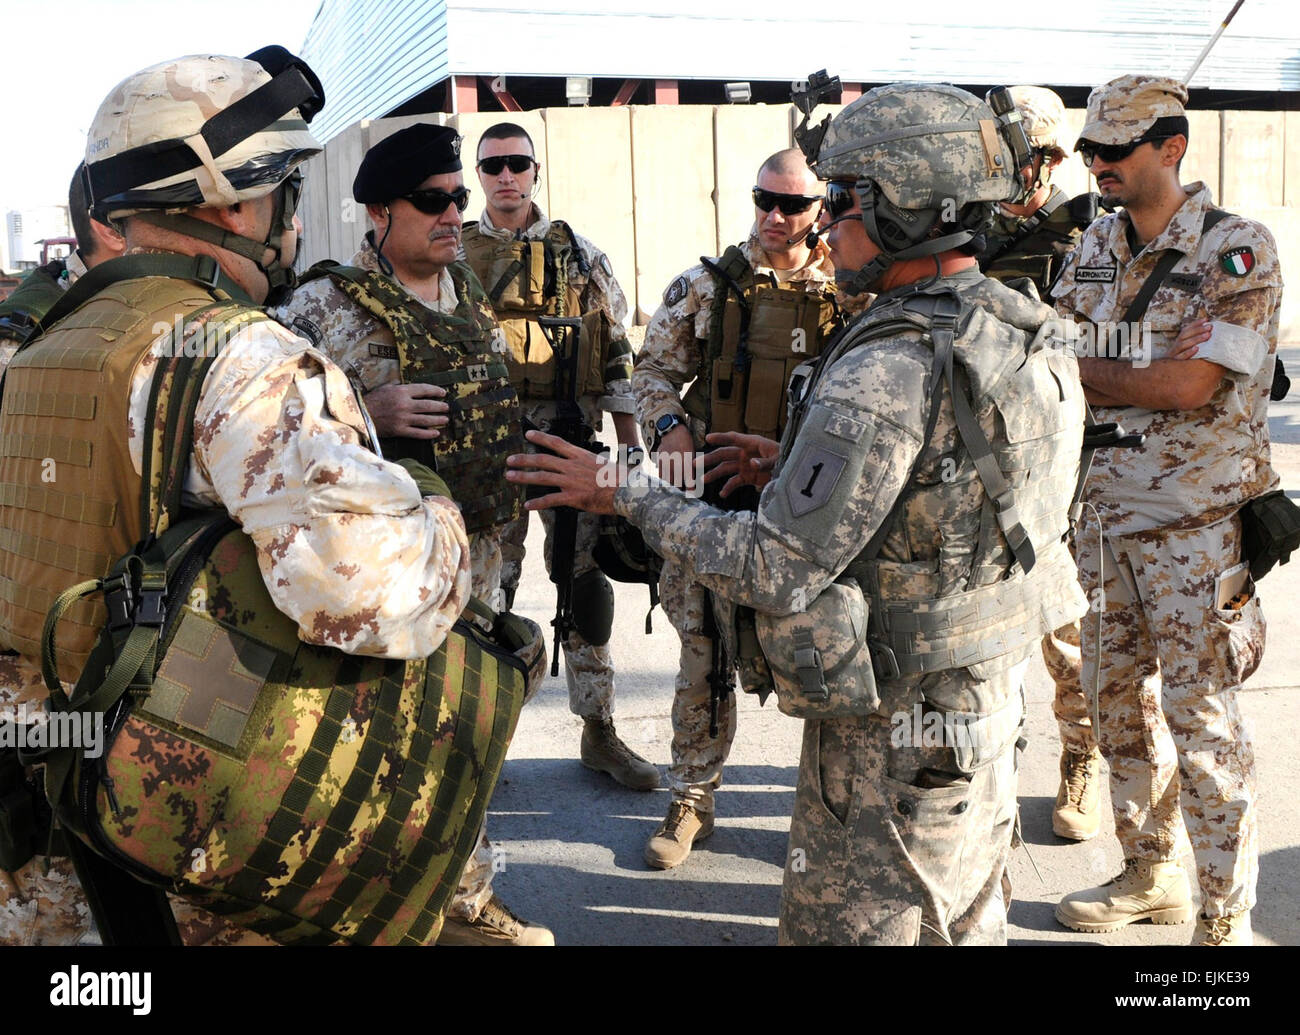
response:
M1216 208L1204 183L1179 182L1186 101L1182 83L1150 75L1092 91L1076 147L1123 211L1088 229L1053 289L1095 341L1114 339L1080 360L1097 419L1147 436L1140 449L1097 454L1086 494L1097 521L1078 538L1083 586L1102 594L1083 622L1083 681L1098 687L1124 869L1066 896L1057 918L1084 931L1190 921L1186 830L1199 943L1249 944L1256 775L1236 690L1260 663L1265 627L1239 511L1278 481L1268 398L1282 274L1266 228ZM1130 316L1170 255L1145 315ZM1118 326L1130 320L1149 337ZM1199 351L1175 360L1187 345Z

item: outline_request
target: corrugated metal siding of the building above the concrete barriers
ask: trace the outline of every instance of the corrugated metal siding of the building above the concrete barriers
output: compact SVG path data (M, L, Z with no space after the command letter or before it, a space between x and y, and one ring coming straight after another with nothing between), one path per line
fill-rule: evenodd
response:
M611 9L614 7L614 9ZM820 4L788 0L324 0L304 44L328 104L329 139L448 74L798 79L1093 86L1126 72L1183 77L1230 0L1096 0L1054 5L1054 25L1017 25L1032 5L968 0ZM1300 7L1247 0L1197 73L1217 90L1300 90Z

